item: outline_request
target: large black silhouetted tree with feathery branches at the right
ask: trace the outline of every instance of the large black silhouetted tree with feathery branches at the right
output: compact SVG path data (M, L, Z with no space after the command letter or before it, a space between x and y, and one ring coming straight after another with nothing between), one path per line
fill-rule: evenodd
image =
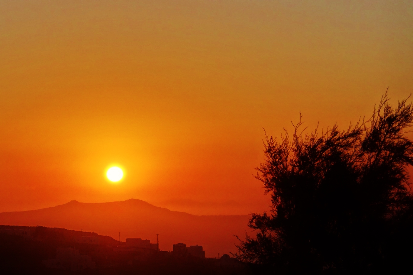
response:
M253 213L236 256L277 274L412 270L413 198L408 182L412 104L386 94L367 122L340 131L266 135L256 178L270 211Z

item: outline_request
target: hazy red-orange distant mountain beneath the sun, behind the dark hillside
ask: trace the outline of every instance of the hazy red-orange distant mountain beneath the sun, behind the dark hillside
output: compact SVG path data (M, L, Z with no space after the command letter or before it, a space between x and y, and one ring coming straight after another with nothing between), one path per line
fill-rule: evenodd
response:
M0 213L1 225L24 225L93 231L121 240L126 238L150 239L159 248L172 250L172 244L183 242L204 247L205 256L233 252L237 239L244 236L249 216L196 216L170 211L141 201L82 203L71 201L45 209Z

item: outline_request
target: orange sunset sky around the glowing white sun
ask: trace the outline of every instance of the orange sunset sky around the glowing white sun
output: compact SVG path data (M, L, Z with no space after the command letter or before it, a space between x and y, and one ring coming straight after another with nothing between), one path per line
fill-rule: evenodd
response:
M412 26L408 0L1 0L0 211L263 211L262 128L407 97Z

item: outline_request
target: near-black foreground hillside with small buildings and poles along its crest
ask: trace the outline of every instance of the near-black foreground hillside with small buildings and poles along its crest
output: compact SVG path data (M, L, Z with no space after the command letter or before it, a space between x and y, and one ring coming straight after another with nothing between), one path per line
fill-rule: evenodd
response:
M133 247L95 232L43 226L0 225L0 248L2 274L242 275L262 272L256 265L242 263L227 254L219 259L202 258L187 250Z

